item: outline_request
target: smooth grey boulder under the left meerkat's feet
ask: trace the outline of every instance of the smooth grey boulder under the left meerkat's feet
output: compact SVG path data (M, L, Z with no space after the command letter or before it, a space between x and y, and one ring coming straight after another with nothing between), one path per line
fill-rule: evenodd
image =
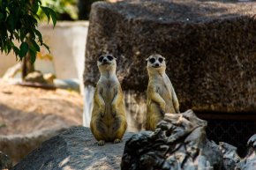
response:
M131 136L126 133L122 143L98 146L90 129L73 127L45 141L12 170L117 170L125 141Z

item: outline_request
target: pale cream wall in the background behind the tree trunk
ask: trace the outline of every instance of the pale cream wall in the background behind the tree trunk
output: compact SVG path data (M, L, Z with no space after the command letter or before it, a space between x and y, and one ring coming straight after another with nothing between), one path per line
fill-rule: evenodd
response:
M55 73L56 78L79 78L80 85L82 85L80 89L83 91L88 25L87 21L58 21L53 29L52 25L41 24L39 30L44 42L50 48L53 61L41 61L37 58L35 69L44 73ZM47 50L42 48L41 53L46 54ZM0 54L0 77L15 63L17 63L16 57L12 53L7 56Z

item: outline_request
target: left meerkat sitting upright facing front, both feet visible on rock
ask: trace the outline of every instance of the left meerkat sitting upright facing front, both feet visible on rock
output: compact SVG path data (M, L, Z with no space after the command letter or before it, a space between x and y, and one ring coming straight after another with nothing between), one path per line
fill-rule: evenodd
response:
M127 128L124 97L117 79L117 58L102 55L97 61L101 77L94 92L90 127L99 145L120 143Z

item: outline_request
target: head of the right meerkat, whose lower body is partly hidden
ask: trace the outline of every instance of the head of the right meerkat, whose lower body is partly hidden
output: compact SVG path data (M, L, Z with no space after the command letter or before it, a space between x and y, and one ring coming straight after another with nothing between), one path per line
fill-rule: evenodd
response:
M150 55L146 59L148 72L164 72L166 69L165 58L162 55Z

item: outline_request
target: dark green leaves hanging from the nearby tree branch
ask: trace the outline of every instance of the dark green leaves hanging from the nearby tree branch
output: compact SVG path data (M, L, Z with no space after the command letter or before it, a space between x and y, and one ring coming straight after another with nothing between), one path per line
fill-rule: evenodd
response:
M43 43L41 33L37 29L40 17L36 14L41 9L46 17L56 25L56 13L41 4L41 0L0 0L0 50L9 54L11 50L22 60L27 53L34 63L40 46ZM18 41L16 45L13 41Z

